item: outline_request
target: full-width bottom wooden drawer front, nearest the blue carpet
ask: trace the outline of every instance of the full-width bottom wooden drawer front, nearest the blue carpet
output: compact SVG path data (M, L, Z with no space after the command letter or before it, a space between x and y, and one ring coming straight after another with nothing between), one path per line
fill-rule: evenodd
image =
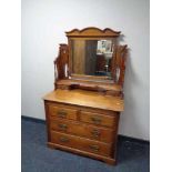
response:
M100 143L100 142L95 142L89 139L64 134L61 132L51 131L51 142L65 145L65 146L70 146L70 148L75 148L75 149L88 151L88 152L92 152L95 154L101 154L101 155L107 155L107 156L112 155L111 144Z

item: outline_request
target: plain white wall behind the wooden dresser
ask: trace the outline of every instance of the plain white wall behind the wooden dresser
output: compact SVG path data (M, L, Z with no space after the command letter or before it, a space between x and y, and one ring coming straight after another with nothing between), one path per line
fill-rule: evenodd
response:
M149 0L22 0L22 115L44 119L53 60L64 31L112 28L129 44L120 133L149 140Z

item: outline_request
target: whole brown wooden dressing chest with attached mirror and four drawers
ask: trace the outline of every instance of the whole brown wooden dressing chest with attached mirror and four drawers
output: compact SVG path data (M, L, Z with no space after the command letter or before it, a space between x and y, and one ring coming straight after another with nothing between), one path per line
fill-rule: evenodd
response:
M54 60L54 90L44 100L48 146L117 162L127 45L120 32L85 28L65 32Z

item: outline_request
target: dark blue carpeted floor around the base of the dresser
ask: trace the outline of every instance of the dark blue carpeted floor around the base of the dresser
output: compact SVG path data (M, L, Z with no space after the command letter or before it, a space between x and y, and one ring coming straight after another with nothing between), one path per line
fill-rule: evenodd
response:
M22 119L22 172L149 172L150 146L119 140L118 165L47 148L44 123Z

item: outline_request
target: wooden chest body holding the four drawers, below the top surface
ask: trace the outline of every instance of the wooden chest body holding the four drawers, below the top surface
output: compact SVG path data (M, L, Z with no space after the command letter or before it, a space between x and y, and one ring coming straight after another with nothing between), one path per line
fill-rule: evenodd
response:
M93 107L88 108L79 104L57 102L51 98L52 97L50 97L49 100L44 100L47 109L48 145L114 164L120 113ZM57 115L58 111L68 112L67 114L70 114L70 118L68 115L65 115L65 118L59 118ZM110 124L110 127L107 127L107 122L105 125L97 124L97 122L89 124L89 121L83 120L81 117L84 114L90 114L95 118L99 115L101 120L108 120L108 125ZM112 122L109 121L109 119L112 119ZM104 122L102 122L102 124ZM113 125L111 125L112 123Z

